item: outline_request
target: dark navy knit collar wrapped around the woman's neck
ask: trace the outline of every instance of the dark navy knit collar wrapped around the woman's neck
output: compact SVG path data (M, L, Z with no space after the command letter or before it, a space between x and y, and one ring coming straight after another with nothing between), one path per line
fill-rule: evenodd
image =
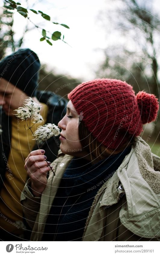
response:
M62 178L66 194L85 192L91 187L97 187L98 184L102 186L118 169L130 150L129 146L123 152L108 156L93 166L83 158L74 157Z

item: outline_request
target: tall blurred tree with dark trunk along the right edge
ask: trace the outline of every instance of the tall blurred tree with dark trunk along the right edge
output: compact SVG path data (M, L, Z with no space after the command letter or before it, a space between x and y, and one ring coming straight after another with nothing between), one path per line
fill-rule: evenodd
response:
M123 23L120 22L122 30L129 31L136 39L142 53L142 61L149 63L152 73L150 87L151 92L159 95L158 83L158 52L159 38L157 38L160 30L160 20L158 13L153 10L153 1L139 0L121 0L124 3ZM122 12L121 12L122 15ZM123 25L122 25L123 24ZM158 36L159 37L159 36Z

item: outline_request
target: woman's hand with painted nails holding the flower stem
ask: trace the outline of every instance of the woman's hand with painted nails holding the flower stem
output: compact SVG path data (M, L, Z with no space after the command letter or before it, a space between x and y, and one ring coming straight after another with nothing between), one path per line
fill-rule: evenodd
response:
M25 160L24 168L31 179L31 189L34 196L40 197L47 184L47 172L50 170L45 161L45 150L32 151ZM49 162L50 164L50 162ZM51 166L52 167L52 166Z

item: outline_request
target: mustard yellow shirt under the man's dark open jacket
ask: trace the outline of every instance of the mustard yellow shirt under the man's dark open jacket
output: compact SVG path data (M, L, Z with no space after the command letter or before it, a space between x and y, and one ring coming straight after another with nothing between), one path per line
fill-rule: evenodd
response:
M48 107L42 104L41 115L44 122L34 124L34 132L39 125L44 125L47 119ZM30 121L27 120L28 125ZM31 122L31 125L33 123ZM8 157L8 169L5 174L5 182L1 190L0 199L0 228L8 232L20 234L20 223L22 224L22 207L20 194L27 180L27 172L24 169L25 159L32 151L35 141L32 132L25 130L26 122L12 118L11 151Z

